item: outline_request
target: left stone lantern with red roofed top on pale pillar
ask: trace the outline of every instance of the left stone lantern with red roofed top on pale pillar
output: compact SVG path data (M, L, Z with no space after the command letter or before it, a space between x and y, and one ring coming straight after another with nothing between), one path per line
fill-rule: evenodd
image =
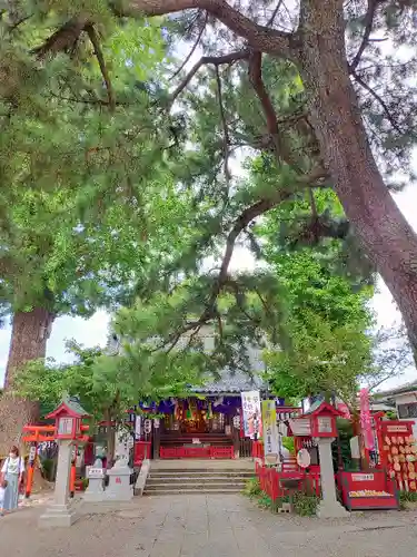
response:
M68 527L76 520L76 515L69 506L72 449L75 441L82 437L81 420L88 416L80 403L69 397L64 397L53 412L47 416L56 422L59 452L53 502L39 519L42 527Z

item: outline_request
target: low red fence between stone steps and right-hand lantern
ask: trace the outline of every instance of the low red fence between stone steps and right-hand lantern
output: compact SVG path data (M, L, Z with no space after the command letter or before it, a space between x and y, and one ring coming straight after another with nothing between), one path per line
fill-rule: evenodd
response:
M298 483L298 491L307 491L320 497L320 475L318 472L278 472L275 468L267 468L256 463L256 473L259 478L260 488L275 501L280 497L289 495L290 490L285 486L286 480Z

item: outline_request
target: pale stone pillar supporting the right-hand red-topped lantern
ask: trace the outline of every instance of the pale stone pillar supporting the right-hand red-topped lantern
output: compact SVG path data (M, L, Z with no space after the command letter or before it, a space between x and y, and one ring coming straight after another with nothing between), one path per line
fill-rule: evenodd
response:
M331 442L332 438L319 438L318 452L320 456L320 477L322 499L317 509L319 518L342 518L349 512L340 505L336 497L335 472L332 468Z

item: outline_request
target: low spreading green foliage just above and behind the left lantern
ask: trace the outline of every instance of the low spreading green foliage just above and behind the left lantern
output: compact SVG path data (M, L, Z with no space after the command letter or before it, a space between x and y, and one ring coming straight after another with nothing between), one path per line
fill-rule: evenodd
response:
M168 356L163 365L152 367L132 351L121 355L107 355L101 349L83 349L70 343L76 358L72 364L57 364L49 359L31 361L20 372L16 392L30 397L50 412L63 393L78 397L81 405L99 420L121 420L125 412L139 400L158 402L175 395L186 395L190 383L197 384L198 372L179 369ZM191 360L191 359L190 359Z

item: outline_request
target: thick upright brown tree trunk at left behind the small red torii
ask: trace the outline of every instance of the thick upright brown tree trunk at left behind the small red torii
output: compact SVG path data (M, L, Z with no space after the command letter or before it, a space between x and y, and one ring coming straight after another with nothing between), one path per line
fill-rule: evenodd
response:
M38 404L13 395L13 381L26 362L44 358L54 315L43 307L17 312L13 316L4 393L0 399L0 456L19 443L22 427L39 418Z

